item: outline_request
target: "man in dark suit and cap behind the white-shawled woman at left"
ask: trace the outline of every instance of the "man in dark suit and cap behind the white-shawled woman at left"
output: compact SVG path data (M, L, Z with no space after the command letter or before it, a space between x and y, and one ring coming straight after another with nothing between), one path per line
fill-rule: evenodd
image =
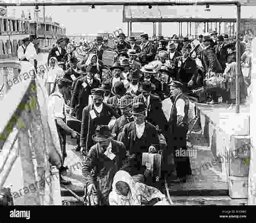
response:
M67 44L70 42L69 38L61 37L57 40L56 45L54 48L51 49L47 64L49 65L49 60L51 57L56 57L58 62L67 61Z

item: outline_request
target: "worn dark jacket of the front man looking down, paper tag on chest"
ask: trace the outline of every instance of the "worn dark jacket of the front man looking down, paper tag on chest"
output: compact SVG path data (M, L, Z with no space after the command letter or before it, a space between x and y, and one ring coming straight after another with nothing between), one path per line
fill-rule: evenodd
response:
M122 168L126 158L125 145L122 142L111 140L111 144L112 153L115 154L113 160L104 154L105 150L97 143L90 148L88 157L82 161L82 175L86 185L93 183L98 191L98 198L103 198L103 201L99 199L99 205L108 202L114 175ZM91 170L94 170L94 174L91 174Z

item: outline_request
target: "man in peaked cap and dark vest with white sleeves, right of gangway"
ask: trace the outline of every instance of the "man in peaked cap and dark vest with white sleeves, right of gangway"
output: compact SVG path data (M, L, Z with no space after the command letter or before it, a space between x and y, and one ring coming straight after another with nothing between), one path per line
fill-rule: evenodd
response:
M187 131L189 99L182 93L182 83L171 81L170 97L163 100L163 111L168 121L168 135L165 157L173 153L176 166L177 178L173 179L170 169L166 168L165 177L174 182L186 182L187 177L192 174L189 156L187 156ZM180 148L182 153L180 154ZM183 152L184 151L184 152Z

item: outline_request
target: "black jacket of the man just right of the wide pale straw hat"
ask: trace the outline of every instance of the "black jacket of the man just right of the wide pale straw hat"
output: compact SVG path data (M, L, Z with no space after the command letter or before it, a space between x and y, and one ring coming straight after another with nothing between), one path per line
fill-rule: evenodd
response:
M177 80L181 83L189 83L190 80L197 80L197 64L194 59L188 57L187 60L183 63L182 56L176 58L175 61L177 69Z

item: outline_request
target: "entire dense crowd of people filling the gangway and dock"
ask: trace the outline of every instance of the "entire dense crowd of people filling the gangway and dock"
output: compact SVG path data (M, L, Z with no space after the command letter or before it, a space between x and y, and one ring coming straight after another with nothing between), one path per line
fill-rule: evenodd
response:
M241 103L250 85L251 37L248 30L240 41ZM115 52L112 65L104 64L104 51ZM236 41L226 34L149 40L144 33L137 40L120 33L114 47L101 36L92 45L64 37L51 49L47 63L45 86L62 155L66 158L66 136L71 135L83 156L85 196L94 204L165 200L150 186L154 180L142 165L142 154L162 155L166 182L186 182L189 156L175 151L187 151L191 102L235 104ZM63 163L60 180L68 185Z

